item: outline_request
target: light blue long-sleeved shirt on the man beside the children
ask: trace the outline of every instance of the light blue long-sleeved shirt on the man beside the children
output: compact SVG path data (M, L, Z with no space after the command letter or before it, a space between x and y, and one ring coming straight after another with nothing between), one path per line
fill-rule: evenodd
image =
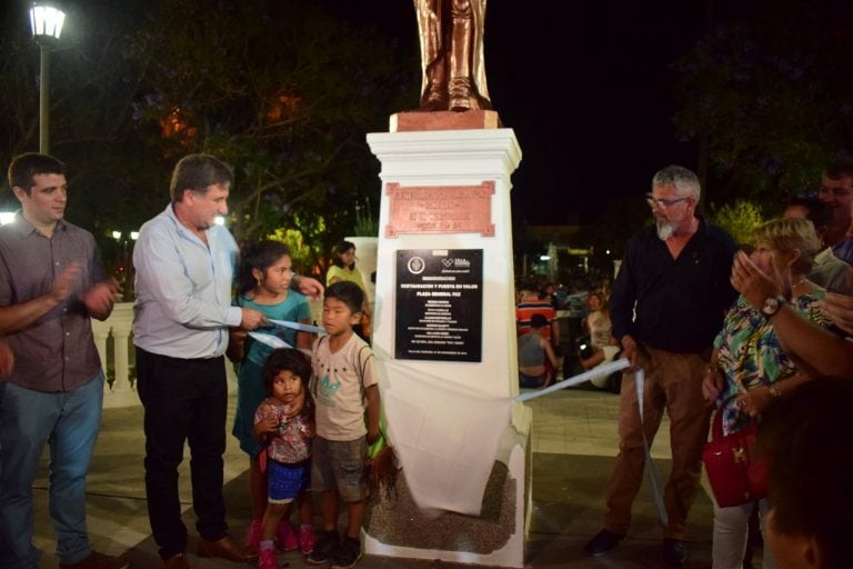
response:
M240 326L231 306L237 242L223 226L185 228L172 206L145 222L133 248L137 301L133 343L172 358L214 358L228 347L228 327Z

